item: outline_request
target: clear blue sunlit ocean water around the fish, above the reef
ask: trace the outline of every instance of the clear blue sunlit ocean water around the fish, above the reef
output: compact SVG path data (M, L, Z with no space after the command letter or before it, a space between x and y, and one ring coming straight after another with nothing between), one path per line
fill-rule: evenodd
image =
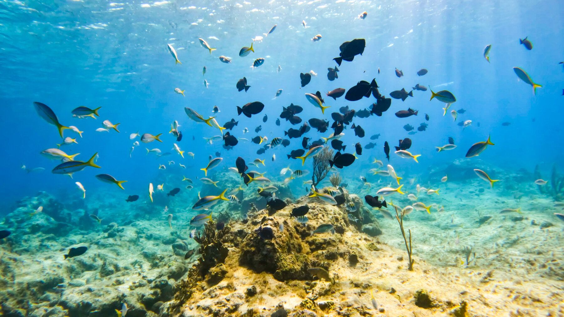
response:
M354 149L359 141L367 144L373 134L380 133L380 137L375 140L374 149L365 149L355 164L343 169L345 181L366 175L373 157L384 159L384 141L394 146L397 140L408 137L402 128L404 124L417 128L425 122L425 113L430 117L426 122L428 130L409 136L413 140L412 153L421 154L420 163L391 154L390 162L404 175L421 176L429 167L464 158L470 145L486 140L488 135L496 145L480 158L492 166L532 170L537 163L559 164L564 78L562 65L558 64L563 59L562 8L559 1L3 2L0 103L7 151L2 158L2 209L7 211L15 200L38 190L59 197L81 195L75 181L86 187L88 198L89 193L112 186L96 180L94 175L100 172L128 181L125 191L113 188L116 195L146 195L148 183L155 182L160 172L159 164L169 160L186 164L186 170L179 169L177 164L167 171L195 179L202 176L200 168L216 151L224 158L220 169L234 166L237 156L248 160L263 158L267 175L277 179L280 169L288 164L299 168L299 162L288 161L285 154L300 148L301 139L292 139L288 148L278 146L264 155L255 154L258 145L243 141L226 151L221 140L206 144L202 137L218 135L219 131L190 120L184 107L206 117L212 115L211 109L217 105L221 110L217 114L220 124L231 118L239 121L232 135L247 139L263 135L271 140L283 137L283 131L290 128L284 121L280 127L274 125L282 106L291 102L301 105L304 111L300 117L304 121L324 118L331 124L330 114L340 106L360 110L374 100L349 102L342 97L337 101L326 97L331 108L323 115L319 108L309 104L304 93L348 89L360 80L372 78L376 78L380 92L386 96L401 88L410 91L417 83L433 87L434 91L447 89L457 99L451 109L463 108L466 113L459 114L453 123L448 113L443 117L442 102L429 101L430 91L414 91L414 97L404 102L393 100L382 117L355 118L354 123L362 126L367 136L359 139L349 127L342 138L349 149ZM368 16L358 19L363 11ZM302 26L302 20L307 28ZM249 46L257 35L264 36L275 24L273 33L262 42L254 42L254 53L237 56L241 47ZM312 42L316 34L323 38ZM519 45L519 38L527 36L534 44L531 51ZM217 51L210 54L198 38L206 39ZM327 68L335 66L332 59L338 56L338 47L354 38L366 39L363 55L343 62L339 78L328 81ZM177 50L182 65L175 65L166 48L168 43ZM487 44L492 44L490 63L482 56ZM220 62L220 55L232 57L231 64ZM265 63L250 68L259 57L265 58ZM204 66L207 73L202 75ZM518 81L514 66L525 69L535 82L543 85L536 95L530 85ZM404 77L396 77L395 68L403 70ZM429 73L418 77L416 72L421 68ZM310 70L317 77L300 88L299 73ZM251 88L237 92L235 83L243 77ZM208 88L204 79L209 82ZM186 90L186 97L175 93L175 87ZM283 94L273 99L279 89L284 90ZM77 159L82 160L98 152L102 169L86 168L72 180L52 174L56 161L43 158L39 152L56 147L61 139L56 128L35 113L33 101L49 105L62 124L85 131L83 138L65 131L65 136L77 137L78 144L64 146L63 150L81 153ZM265 109L252 118L237 116L236 106L251 101L263 102ZM102 106L100 117L73 118L70 110L81 105L92 109ZM407 119L393 115L407 108L418 110L419 115ZM265 114L268 121L263 123ZM95 132L105 119L121 123L121 133ZM457 126L457 122L467 119L473 121L471 126L464 130ZM184 136L178 145L195 153L193 159L182 159L171 150L175 141L167 132L173 120L178 120ZM503 122L510 125L502 126ZM258 125L262 125L262 131L254 133ZM245 127L250 132L244 135ZM163 133L164 142L141 144L130 158L133 141L128 136L137 131ZM323 134L312 129L305 136L315 140L330 132ZM446 144L449 136L459 147L437 153L435 146ZM155 158L146 155L146 147L172 154ZM272 154L276 154L275 162L271 161ZM45 171L25 173L21 164L27 168L43 167Z

